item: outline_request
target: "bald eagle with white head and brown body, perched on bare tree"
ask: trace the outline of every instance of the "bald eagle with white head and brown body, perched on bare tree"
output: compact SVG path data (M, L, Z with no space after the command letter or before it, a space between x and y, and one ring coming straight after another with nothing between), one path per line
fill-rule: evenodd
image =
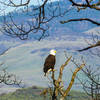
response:
M50 50L50 54L47 56L44 62L44 68L43 68L43 71L45 73L44 76L46 76L47 73L49 73L50 71L53 71L56 62L55 55L56 55L56 50Z

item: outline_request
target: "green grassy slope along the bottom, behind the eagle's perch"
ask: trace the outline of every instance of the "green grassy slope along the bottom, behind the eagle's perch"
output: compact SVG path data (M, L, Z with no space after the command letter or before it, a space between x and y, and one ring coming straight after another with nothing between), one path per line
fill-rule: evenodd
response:
M0 100L44 100L44 97L40 96L42 90L43 88L39 87L19 89L13 93L2 94ZM81 92L71 91L70 95L72 98L68 98L68 100L88 100L86 94ZM48 99L46 98L46 100Z

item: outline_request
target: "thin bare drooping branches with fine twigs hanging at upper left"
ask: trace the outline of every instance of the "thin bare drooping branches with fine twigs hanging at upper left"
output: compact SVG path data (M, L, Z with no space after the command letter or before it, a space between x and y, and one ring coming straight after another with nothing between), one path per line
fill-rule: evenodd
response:
M25 16L28 15L31 20L28 21L26 19L23 20L21 23L17 23L17 21L13 18L13 13L10 13L9 15L4 16L2 27L3 33L12 37L18 37L21 40L28 39L29 34L41 33L40 37L38 38L38 40L41 40L42 38L48 36L48 22L56 17L65 15L65 13L69 11L63 11L59 2L53 4L51 0L41 0L42 3L38 1L38 6L33 5L30 9L30 7L28 6L31 2L32 0L19 0L18 3L16 3L14 0L0 2L2 5L5 5L7 7L15 7L16 9L19 7L24 7L23 10L19 10L21 10L21 12L25 14ZM35 2L35 0L33 0L33 2Z

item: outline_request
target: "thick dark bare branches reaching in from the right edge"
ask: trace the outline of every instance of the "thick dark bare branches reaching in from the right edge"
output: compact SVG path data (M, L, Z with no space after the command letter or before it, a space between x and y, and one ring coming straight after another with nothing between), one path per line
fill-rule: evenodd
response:
M68 0L72 7L76 9L77 12L80 12L81 10L87 10L88 8L90 10L94 9L97 11L100 11L100 0ZM69 23L69 22L78 22L78 21L88 21L92 24L95 24L97 26L100 26L99 18L98 19L92 19L91 17L82 17L82 18L69 18L68 20L60 21L61 24ZM100 39L96 41L94 44L91 44L90 46L78 50L79 52L85 51L94 47L100 47Z

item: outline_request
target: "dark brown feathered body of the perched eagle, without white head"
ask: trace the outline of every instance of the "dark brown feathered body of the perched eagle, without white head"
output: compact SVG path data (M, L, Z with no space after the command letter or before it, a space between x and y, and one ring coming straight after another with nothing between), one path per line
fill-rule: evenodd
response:
M51 54L48 55L48 57L45 60L44 68L43 68L45 76L49 69L54 69L55 62L56 62L55 56Z

